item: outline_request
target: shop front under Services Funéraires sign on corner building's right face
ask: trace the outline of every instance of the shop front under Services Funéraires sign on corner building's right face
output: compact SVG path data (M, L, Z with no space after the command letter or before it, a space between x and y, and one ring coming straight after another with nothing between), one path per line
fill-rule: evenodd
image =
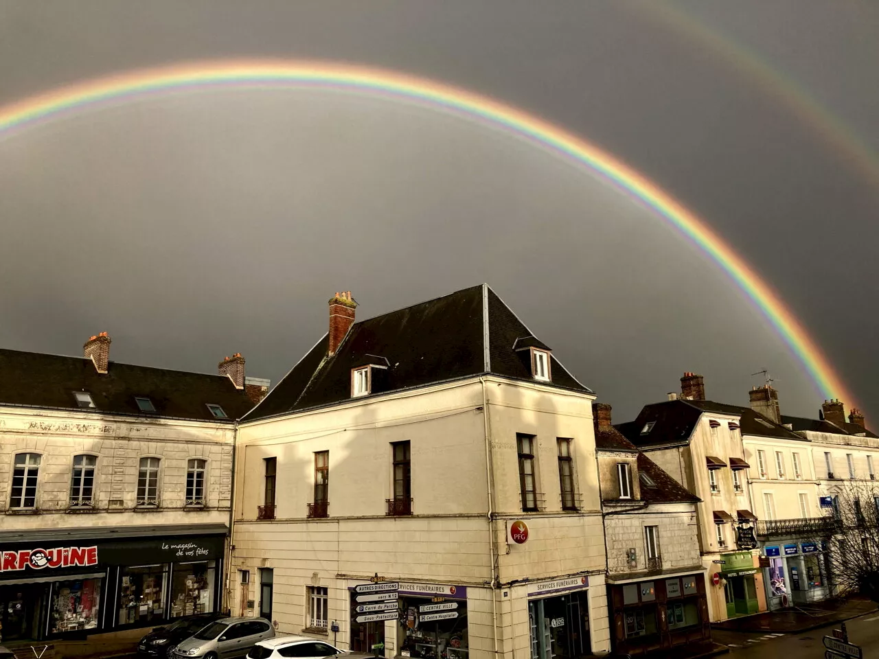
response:
M532 659L592 654L588 589L588 576L528 585Z

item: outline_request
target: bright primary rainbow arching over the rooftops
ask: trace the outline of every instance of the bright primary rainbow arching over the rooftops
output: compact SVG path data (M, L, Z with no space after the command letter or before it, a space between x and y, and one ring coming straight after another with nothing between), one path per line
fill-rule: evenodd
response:
M421 77L331 62L221 61L193 62L141 69L71 84L54 91L0 106L0 139L23 129L100 105L112 105L155 93L199 91L223 87L272 88L278 85L316 87L380 95L454 112L500 128L585 165L669 221L708 254L766 316L825 398L854 404L842 380L778 294L760 279L708 224L673 199L657 184L621 160L574 134L510 105Z

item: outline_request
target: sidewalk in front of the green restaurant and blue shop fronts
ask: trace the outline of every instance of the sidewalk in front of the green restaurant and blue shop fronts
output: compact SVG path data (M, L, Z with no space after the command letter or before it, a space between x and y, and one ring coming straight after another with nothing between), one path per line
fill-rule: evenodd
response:
M796 634L808 632L832 622L841 622L876 611L876 604L865 597L846 600L814 602L798 608L765 613L755 613L742 618L731 618L711 623L712 629L729 632L781 632Z

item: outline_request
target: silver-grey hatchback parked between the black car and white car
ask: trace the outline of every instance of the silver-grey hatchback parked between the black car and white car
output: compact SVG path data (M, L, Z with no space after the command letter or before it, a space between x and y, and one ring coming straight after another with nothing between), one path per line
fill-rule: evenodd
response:
M273 637L274 627L265 618L223 618L180 641L173 659L232 659Z

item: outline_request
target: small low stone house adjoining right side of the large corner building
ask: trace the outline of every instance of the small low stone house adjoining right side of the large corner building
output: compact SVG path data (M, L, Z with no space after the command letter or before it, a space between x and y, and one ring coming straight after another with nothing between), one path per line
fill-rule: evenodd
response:
M708 644L699 498L614 429L610 405L593 403L593 410L614 651Z

